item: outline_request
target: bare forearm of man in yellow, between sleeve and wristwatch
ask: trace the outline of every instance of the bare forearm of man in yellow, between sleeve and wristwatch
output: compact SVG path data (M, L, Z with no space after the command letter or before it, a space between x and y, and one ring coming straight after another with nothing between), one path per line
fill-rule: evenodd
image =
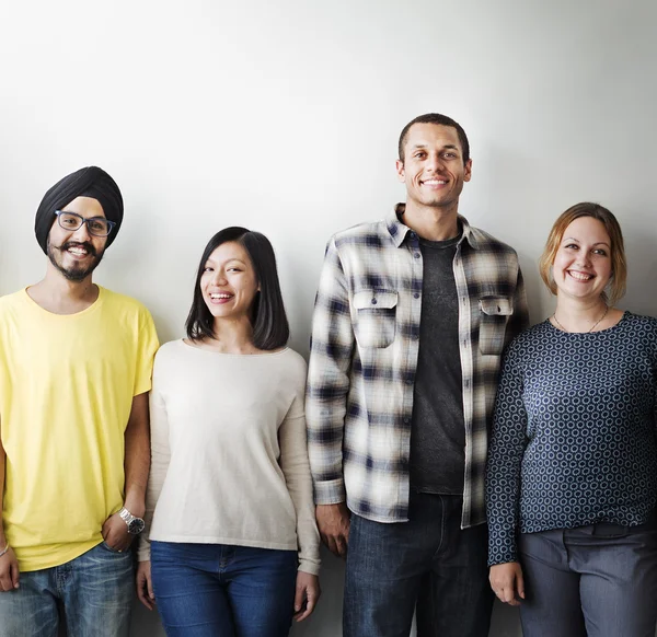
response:
M132 399L132 410L125 432L125 507L134 516L146 510L146 487L150 468L148 394Z

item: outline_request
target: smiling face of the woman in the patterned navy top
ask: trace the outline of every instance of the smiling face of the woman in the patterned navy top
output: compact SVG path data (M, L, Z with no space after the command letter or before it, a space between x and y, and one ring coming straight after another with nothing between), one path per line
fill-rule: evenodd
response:
M592 217L579 217L565 230L552 265L557 296L599 298L612 277L611 239Z

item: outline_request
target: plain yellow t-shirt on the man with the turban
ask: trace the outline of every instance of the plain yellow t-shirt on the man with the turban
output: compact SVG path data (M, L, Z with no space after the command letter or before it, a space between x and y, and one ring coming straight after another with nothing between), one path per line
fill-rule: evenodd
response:
M2 520L21 570L65 564L102 541L124 501L124 432L157 349L148 310L104 288L69 315L25 290L0 299Z

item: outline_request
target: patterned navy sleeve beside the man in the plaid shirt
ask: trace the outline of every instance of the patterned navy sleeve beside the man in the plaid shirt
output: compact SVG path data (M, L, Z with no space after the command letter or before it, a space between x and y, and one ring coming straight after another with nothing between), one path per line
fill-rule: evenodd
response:
M517 561L520 468L527 447L521 351L512 344L502 366L486 466L488 566Z

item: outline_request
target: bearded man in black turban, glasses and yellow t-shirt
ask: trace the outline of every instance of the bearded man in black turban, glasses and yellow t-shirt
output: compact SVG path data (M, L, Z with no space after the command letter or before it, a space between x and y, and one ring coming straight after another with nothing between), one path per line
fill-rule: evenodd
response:
M69 635L128 635L158 338L92 281L123 215L105 171L64 177L34 223L46 276L0 298L0 637L57 634L56 600Z

